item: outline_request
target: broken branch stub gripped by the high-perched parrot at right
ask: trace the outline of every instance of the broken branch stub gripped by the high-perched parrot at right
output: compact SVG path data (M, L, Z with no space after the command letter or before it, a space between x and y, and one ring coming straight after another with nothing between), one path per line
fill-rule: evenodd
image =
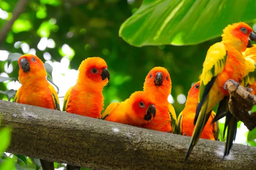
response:
M250 115L248 111L256 104L256 96L248 92L246 88L237 82L228 80L226 85L230 93L230 100L228 102L230 112L236 119L244 122L244 125L249 130L253 130L256 127L256 113Z

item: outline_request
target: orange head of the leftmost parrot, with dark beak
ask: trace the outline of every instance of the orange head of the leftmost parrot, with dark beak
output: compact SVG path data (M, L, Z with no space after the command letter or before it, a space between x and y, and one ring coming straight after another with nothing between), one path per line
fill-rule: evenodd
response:
M31 79L46 79L47 72L44 68L44 62L37 56L25 54L19 58L18 63L20 66L19 80L21 84L24 84L26 81L29 82Z

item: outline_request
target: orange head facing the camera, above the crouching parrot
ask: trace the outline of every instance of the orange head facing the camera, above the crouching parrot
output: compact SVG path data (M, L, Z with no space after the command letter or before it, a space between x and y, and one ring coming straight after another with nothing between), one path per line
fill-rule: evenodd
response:
M172 89L170 75L166 68L154 67L149 71L144 82L144 91L151 89L169 95ZM154 89L152 89L154 88ZM158 90L157 90L158 89Z

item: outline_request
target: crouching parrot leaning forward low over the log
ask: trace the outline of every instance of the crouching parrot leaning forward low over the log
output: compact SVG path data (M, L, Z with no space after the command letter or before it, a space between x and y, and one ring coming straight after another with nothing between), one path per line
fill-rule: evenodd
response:
M142 127L155 115L154 100L144 91L136 91L125 101L108 105L102 119Z

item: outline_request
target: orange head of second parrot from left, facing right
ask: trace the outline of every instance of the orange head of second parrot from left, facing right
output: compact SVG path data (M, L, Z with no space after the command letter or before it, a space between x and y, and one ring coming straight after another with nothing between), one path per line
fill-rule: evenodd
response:
M99 83L103 87L110 79L110 74L107 68L107 63L100 57L89 57L84 59L78 69L78 82L85 82L87 84Z

